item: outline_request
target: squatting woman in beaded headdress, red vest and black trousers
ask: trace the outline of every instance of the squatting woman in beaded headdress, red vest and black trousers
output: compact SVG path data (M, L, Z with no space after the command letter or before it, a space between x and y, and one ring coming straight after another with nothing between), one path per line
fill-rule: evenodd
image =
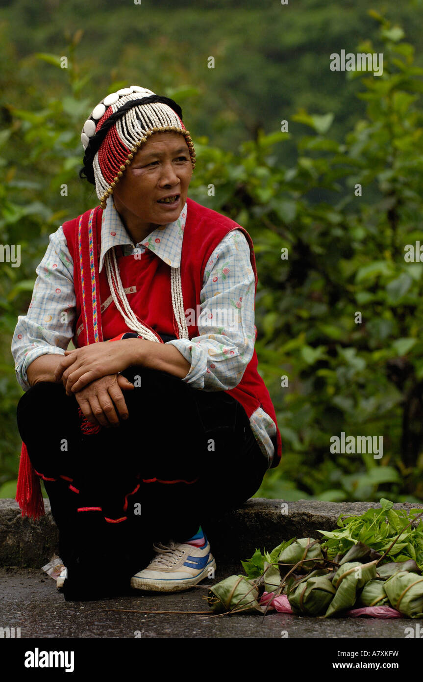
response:
M16 499L36 517L44 480L65 599L181 591L213 576L207 519L281 458L254 351L253 243L188 198L195 151L173 100L111 93L81 140L101 207L50 235L12 342Z

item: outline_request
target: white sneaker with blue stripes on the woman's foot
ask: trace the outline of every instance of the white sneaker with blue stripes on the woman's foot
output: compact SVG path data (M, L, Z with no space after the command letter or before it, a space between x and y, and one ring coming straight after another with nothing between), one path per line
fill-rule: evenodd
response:
M131 587L154 592L187 590L208 576L215 577L216 562L204 535L204 547L158 542L153 545L157 556L144 570L131 578Z

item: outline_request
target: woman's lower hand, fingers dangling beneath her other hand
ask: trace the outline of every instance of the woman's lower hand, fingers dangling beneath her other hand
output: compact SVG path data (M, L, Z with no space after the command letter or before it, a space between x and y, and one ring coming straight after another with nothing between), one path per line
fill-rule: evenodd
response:
M127 389L134 389L134 384L121 374L112 374L93 381L78 391L75 398L84 417L95 426L119 426L119 417L128 417L127 404L122 393Z

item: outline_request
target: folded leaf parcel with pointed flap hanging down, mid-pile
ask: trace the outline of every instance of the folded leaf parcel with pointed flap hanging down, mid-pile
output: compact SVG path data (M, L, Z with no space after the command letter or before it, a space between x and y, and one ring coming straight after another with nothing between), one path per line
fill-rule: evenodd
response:
M371 563L351 561L340 566L332 578L336 594L329 604L325 617L330 618L340 611L352 608L356 603L358 591L373 578L376 578L376 561Z

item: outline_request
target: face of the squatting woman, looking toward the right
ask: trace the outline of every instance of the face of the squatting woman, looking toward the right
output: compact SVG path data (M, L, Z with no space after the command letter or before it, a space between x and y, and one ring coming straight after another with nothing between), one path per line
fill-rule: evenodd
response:
M156 132L140 147L113 191L118 213L140 224L166 225L179 217L192 176L185 137ZM176 196L173 203L160 199Z

